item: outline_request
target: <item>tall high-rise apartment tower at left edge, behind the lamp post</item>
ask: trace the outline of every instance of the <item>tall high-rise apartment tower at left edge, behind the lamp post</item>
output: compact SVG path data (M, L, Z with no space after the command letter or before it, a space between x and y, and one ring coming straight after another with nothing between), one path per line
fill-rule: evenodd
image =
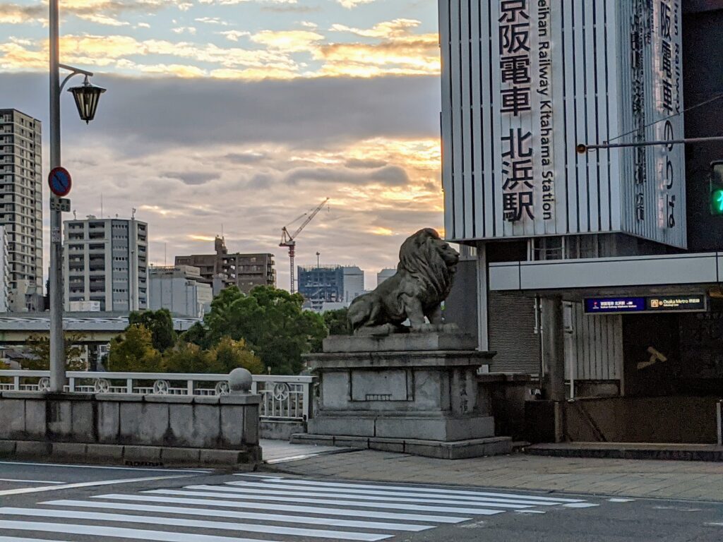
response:
M7 233L9 288L43 291L40 121L0 109L0 225Z

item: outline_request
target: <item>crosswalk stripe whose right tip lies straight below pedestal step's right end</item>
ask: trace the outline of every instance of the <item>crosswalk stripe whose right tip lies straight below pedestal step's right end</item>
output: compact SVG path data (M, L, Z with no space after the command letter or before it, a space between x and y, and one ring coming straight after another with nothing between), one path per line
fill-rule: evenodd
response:
M288 496L270 496L270 495L259 495L249 494L244 496L243 494L226 493L223 491L207 491L197 493L194 491L183 491L178 489L153 489L146 491L146 493L152 494L164 494L164 495L193 495L193 496L205 496L214 497L219 499L237 499L239 501L276 501L276 502L288 502ZM369 501L339 501L338 499L306 499L294 497L294 502L306 502L310 504L343 504L345 507L361 507L361 508L382 508L382 509L397 509L397 510L411 510L414 512L443 512L445 514L472 514L472 515L495 515L500 514L502 510L490 510L486 508L471 508L471 507L438 507L438 506L424 506L422 504L404 504L396 502L369 502ZM282 505L280 505L282 506Z

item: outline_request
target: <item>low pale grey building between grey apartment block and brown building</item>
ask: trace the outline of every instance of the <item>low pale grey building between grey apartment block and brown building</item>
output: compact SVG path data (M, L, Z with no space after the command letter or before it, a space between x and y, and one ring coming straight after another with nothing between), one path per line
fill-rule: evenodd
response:
M198 267L150 267L148 284L152 311L168 309L174 316L202 318L210 310L213 290Z

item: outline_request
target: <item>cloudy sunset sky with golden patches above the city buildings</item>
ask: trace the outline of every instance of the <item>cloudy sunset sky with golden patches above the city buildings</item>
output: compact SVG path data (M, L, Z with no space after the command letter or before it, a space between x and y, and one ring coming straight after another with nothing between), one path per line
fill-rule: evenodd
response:
M367 288L406 236L443 234L435 1L60 0L60 10L61 62L108 89L88 126L62 98L72 209L135 209L152 264L210 253L223 233L230 251L275 254L288 288L281 228L327 197L296 263L316 264L318 251L321 264L359 265ZM43 177L47 11L0 0L0 108L43 121ZM47 269L47 202L43 218Z

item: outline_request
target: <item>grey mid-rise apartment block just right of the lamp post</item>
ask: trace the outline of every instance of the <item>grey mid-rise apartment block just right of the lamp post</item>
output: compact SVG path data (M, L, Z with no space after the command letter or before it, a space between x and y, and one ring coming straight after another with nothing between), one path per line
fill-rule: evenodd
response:
M148 308L148 225L96 218L64 222L65 306L99 301L101 311Z

